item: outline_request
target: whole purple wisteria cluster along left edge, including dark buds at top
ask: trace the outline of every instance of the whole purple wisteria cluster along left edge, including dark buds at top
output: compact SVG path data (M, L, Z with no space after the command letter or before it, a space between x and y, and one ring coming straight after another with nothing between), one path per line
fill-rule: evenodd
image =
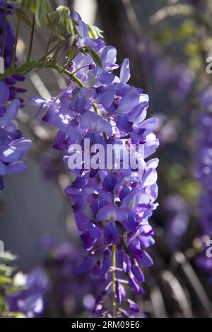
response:
M11 25L6 20L4 49L2 48L4 2L0 1L0 50L1 55L4 55L4 67L8 69L13 57L15 39ZM7 14L11 14L11 8L13 8L13 5L7 4ZM23 81L23 79L23 76L14 74L0 81L0 189L4 188L4 175L25 171L26 165L22 160L31 147L30 139L23 137L21 131L18 130L17 125L13 122L23 101L16 98L16 94L24 92L23 89L16 88L15 84L16 81ZM10 100L12 102L8 103Z

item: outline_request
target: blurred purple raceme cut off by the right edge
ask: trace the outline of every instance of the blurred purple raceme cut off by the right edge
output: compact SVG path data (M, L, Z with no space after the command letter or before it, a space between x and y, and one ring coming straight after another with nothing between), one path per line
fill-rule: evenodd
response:
M200 226L202 229L201 241L204 254L197 257L197 263L206 272L212 273L211 258L206 255L207 242L212 237L212 190L211 190L211 171L212 171L212 90L209 87L201 96L201 105L204 106L203 112L199 114L198 124L198 144L196 154L196 178L202 185L199 196Z

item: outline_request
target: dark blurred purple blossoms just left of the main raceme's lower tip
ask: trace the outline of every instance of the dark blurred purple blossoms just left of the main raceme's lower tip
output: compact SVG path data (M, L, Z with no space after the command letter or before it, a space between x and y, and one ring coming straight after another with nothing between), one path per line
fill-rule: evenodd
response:
M84 256L83 248L64 242L55 247L52 238L42 238L45 251L45 270L51 278L52 297L65 317L76 316L78 312L90 314L101 285L95 275L77 275L77 266ZM61 309L62 308L62 309Z

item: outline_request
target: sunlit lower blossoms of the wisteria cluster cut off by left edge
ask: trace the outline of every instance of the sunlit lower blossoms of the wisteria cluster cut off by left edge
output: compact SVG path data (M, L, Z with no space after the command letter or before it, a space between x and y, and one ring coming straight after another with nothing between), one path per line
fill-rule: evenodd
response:
M4 187L4 175L26 169L22 160L31 147L30 139L23 137L13 122L18 114L20 100L15 99L6 107L8 97L8 86L0 81L0 189Z

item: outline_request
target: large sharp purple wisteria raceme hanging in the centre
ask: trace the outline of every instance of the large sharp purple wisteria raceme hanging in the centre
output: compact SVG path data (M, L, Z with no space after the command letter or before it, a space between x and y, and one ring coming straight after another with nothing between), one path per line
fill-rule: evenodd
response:
M94 312L131 316L139 307L130 294L143 294L142 268L153 264L146 249L154 243L148 218L158 196L158 159L149 158L158 148L157 119L146 119L148 95L127 83L129 60L115 76L116 49L90 38L78 14L72 15L81 37L68 69L81 87L70 83L52 100L31 102L40 107L37 115L45 113L43 124L59 129L53 146L64 151L76 176L65 191L88 253L78 273L91 271L104 289Z

